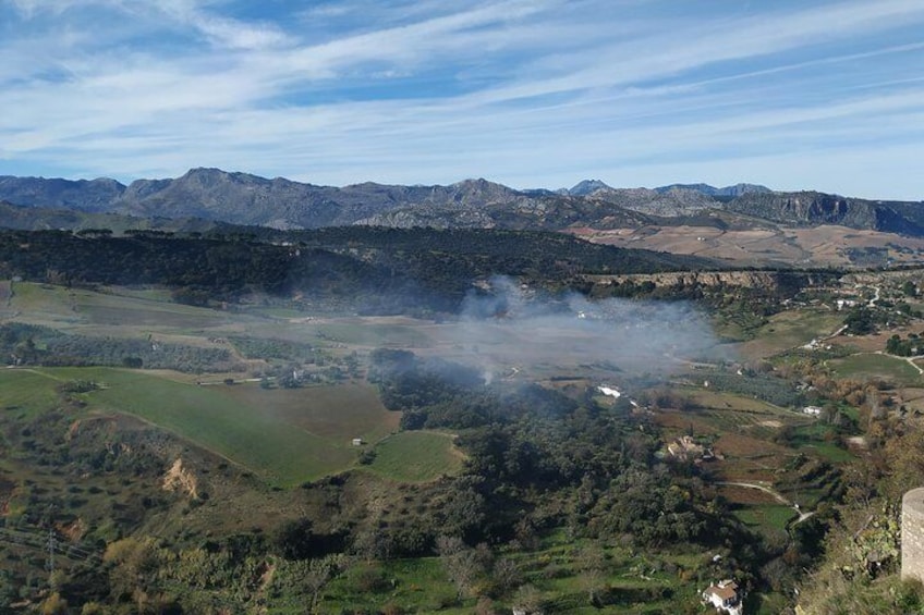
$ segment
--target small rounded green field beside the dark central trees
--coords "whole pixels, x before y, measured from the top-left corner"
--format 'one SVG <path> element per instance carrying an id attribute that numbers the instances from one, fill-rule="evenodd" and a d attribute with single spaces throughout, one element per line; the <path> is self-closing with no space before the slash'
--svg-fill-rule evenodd
<path id="1" fill-rule="evenodd" d="M 426 482 L 462 468 L 453 436 L 433 431 L 402 431 L 375 447 L 374 472 L 401 482 Z"/>

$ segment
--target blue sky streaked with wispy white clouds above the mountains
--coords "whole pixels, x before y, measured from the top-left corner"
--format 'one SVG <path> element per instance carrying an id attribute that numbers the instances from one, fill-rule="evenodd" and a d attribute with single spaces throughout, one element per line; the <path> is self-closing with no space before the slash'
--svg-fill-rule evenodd
<path id="1" fill-rule="evenodd" d="M 924 199 L 920 0 L 0 0 L 0 174 Z"/>

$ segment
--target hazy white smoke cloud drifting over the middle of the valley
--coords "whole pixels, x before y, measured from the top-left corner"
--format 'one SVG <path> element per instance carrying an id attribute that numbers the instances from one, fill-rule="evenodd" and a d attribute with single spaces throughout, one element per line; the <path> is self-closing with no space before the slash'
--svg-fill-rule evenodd
<path id="1" fill-rule="evenodd" d="M 588 366 L 662 376 L 722 358 L 708 318 L 689 302 L 543 298 L 508 278 L 466 298 L 454 337 L 495 377 Z"/>

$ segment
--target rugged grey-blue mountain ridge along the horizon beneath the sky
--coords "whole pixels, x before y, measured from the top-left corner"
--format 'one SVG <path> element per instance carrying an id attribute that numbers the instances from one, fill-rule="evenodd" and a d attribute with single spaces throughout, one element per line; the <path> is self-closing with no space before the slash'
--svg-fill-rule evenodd
<path id="1" fill-rule="evenodd" d="M 136 180 L 127 186 L 109 179 L 61 180 L 0 176 L 0 200 L 15 206 L 121 214 L 142 219 L 200 219 L 275 229 L 317 229 L 352 224 L 394 227 L 566 230 L 683 224 L 709 211 L 775 224 L 841 224 L 854 229 L 924 236 L 924 205 L 877 201 L 817 192 L 774 192 L 755 184 L 717 188 L 671 184 L 657 188 L 613 188 L 585 180 L 572 188 L 516 190 L 486 180 L 448 186 L 362 183 L 318 186 L 219 169 L 192 169 L 168 180 Z M 9 207 L 7 205 L 5 207 Z M 22 209 L 0 211 L 0 225 Z M 36 211 L 36 218 L 41 213 Z M 50 216 L 50 214 L 49 214 Z M 25 217 L 25 218 L 24 218 Z M 29 224 L 57 227 L 66 220 Z M 85 219 L 88 220 L 88 219 Z M 95 222 L 105 222 L 93 218 Z M 76 223 L 76 222 L 75 222 Z"/>

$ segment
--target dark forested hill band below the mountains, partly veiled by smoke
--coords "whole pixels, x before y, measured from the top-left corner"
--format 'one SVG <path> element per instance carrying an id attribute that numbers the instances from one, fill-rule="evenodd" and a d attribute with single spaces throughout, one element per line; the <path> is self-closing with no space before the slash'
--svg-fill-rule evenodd
<path id="1" fill-rule="evenodd" d="M 708 261 L 622 250 L 552 233 L 377 227 L 232 236 L 163 232 L 0 232 L 0 275 L 64 284 L 162 284 L 178 302 L 299 294 L 364 313 L 454 311 L 472 280 L 561 282 L 575 273 L 651 272 Z M 229 241 L 230 239 L 230 241 Z M 263 239 L 263 241 L 257 241 Z"/>

